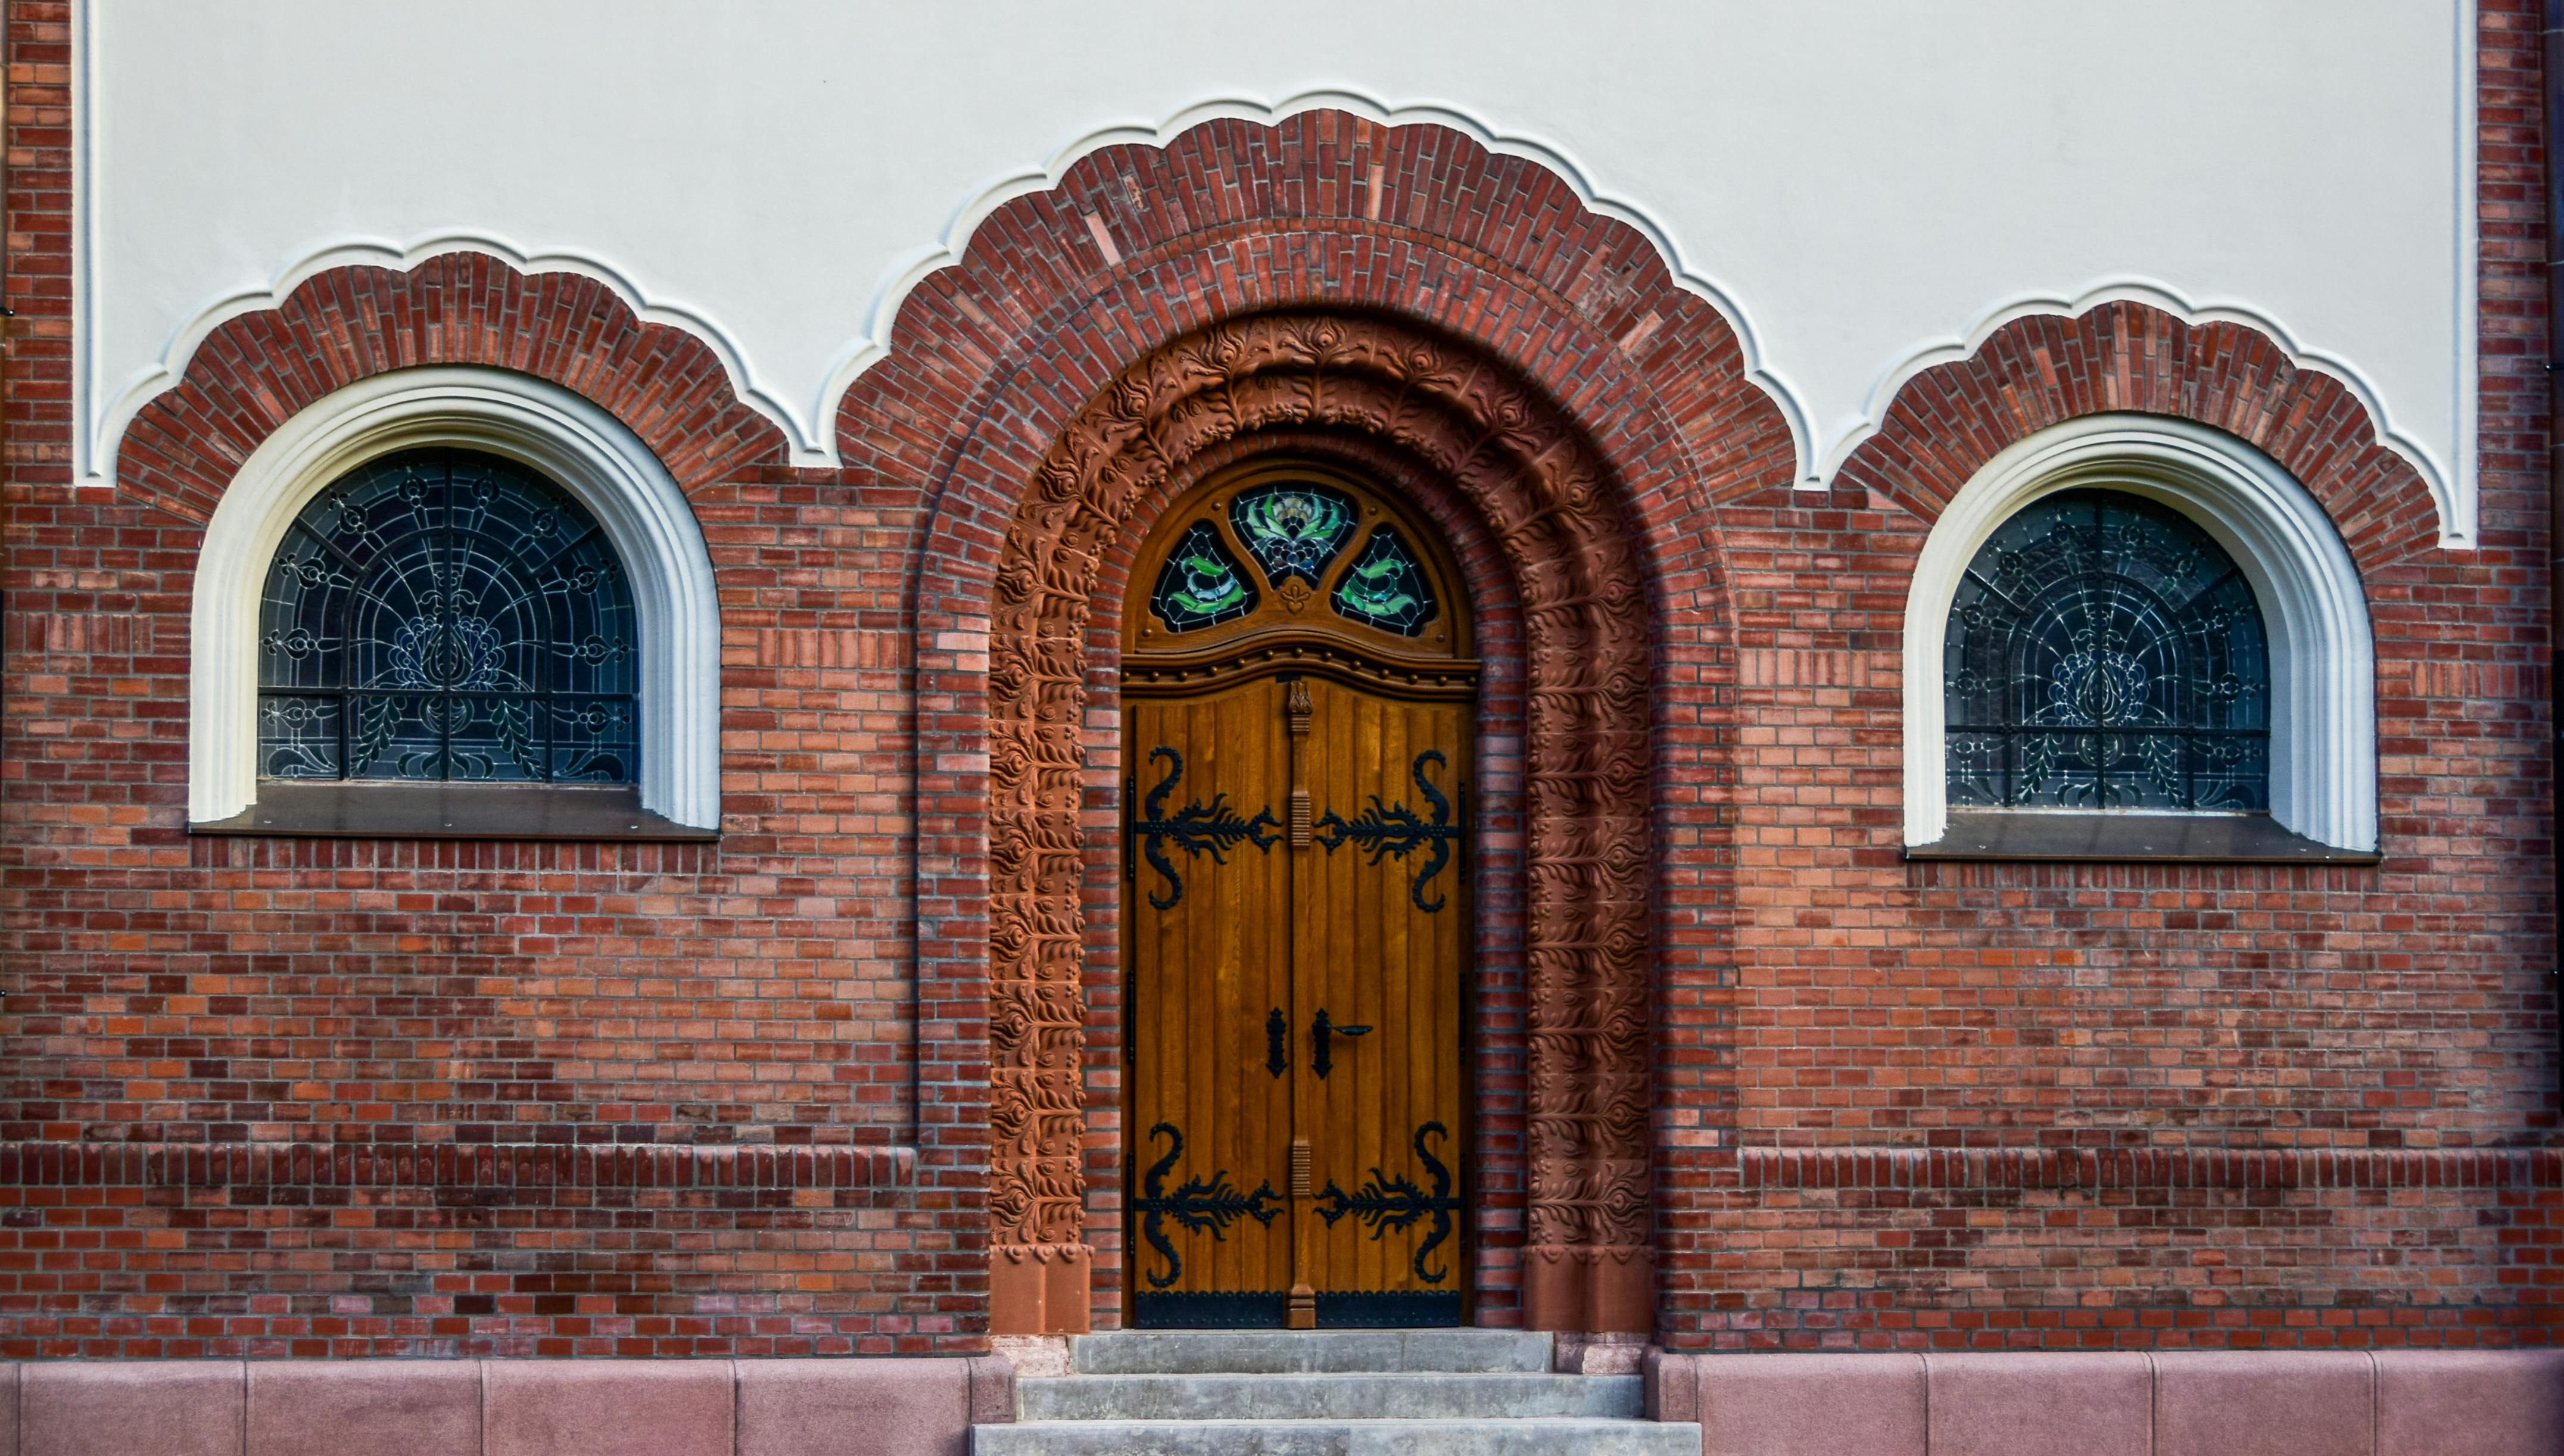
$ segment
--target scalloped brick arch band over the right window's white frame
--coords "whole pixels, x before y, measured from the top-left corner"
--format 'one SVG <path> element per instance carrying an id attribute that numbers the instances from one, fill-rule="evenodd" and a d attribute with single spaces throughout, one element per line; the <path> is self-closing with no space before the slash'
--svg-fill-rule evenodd
<path id="1" fill-rule="evenodd" d="M 2241 323 L 2187 323 L 2141 302 L 2018 318 L 1956 364 L 1897 390 L 1879 433 L 1838 472 L 1920 520 L 2005 446 L 2077 415 L 2174 415 L 2238 436 L 2331 513 L 2364 572 L 2438 546 L 2438 505 L 2331 374 Z"/>

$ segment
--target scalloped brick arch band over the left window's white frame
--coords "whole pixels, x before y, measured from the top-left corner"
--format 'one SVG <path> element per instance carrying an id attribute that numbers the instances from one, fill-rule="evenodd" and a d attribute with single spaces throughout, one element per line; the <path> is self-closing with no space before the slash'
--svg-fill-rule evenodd
<path id="1" fill-rule="evenodd" d="M 133 418 L 118 490 L 205 520 L 241 461 L 297 410 L 420 364 L 513 369 L 585 395 L 687 492 L 787 459 L 782 431 L 738 400 L 720 356 L 692 333 L 644 323 L 590 277 L 441 254 L 410 272 L 328 269 L 277 308 L 215 328 L 177 387 Z"/>

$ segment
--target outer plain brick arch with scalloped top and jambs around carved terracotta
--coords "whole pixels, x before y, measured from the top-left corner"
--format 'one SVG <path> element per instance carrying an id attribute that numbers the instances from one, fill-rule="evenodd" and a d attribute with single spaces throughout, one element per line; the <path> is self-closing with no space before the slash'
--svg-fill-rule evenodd
<path id="1" fill-rule="evenodd" d="M 1636 549 L 1633 579 L 1656 625 L 1651 751 L 1659 774 L 1685 784 L 1659 795 L 1654 813 L 1667 848 L 1656 856 L 1659 997 L 1646 1030 L 1664 1084 L 1687 1089 L 1697 1110 L 1664 1120 L 1656 1138 L 1715 1146 L 1733 1115 L 1726 802 L 1736 625 L 1723 543 L 1705 525 L 1723 502 L 1790 497 L 1795 464 L 1787 420 L 1744 377 L 1733 333 L 1674 285 L 1646 238 L 1587 213 L 1536 164 L 1492 156 L 1438 126 L 1387 128 L 1318 110 L 1277 126 L 1215 120 L 1164 149 L 1103 149 L 1054 192 L 1000 208 L 959 267 L 910 292 L 892 354 L 854 382 L 838 410 L 849 484 L 923 484 L 908 608 L 918 643 L 915 1005 L 918 1025 L 933 1028 L 918 1043 L 918 1164 L 928 1187 L 964 1210 L 951 1223 L 964 1251 L 954 1266 L 964 1310 L 977 1305 L 987 1269 L 969 1251 L 987 1228 L 974 1215 L 992 1156 L 982 1128 L 987 631 L 997 556 L 1049 446 L 1133 361 L 1228 320 L 1292 310 L 1395 318 L 1454 341 L 1572 420 L 1608 461 Z M 1103 895 L 1103 879 L 1090 882 L 1090 902 Z M 1087 933 L 1090 964 L 1110 966 L 1092 920 Z M 1110 972 L 1090 972 L 1095 1000 L 1108 984 Z M 1103 1023 L 1092 1000 L 1085 1015 Z M 1051 1074 L 1067 1077 L 1056 1066 Z M 1110 1107 L 1110 1064 L 1090 1051 L 1087 1074 L 1087 1105 Z M 1067 1166 L 1059 1151 L 1054 1138 L 1049 1156 Z M 1110 1154 L 1092 1151 L 1090 1171 L 1103 1166 Z M 1697 1159 L 1656 1159 L 1651 1174 L 1664 1187 L 1718 1177 Z M 1013 1197 L 1020 1212 L 1026 1195 Z M 1059 1192 L 1049 1197 L 1067 1210 Z M 1090 1200 L 1090 1218 L 1100 1218 L 1105 1197 Z M 1646 1228 L 1659 1218 L 1654 1207 L 1644 1197 L 1623 1207 L 1623 1225 L 1638 1225 L 1641 1241 L 1672 1238 Z M 1595 1266 L 1595 1246 L 1582 1248 L 1579 1266 Z M 1641 1253 L 1631 1251 L 1610 1277 L 1618 1289 L 1638 1287 L 1638 1305 Z M 1649 1323 L 1646 1312 L 1615 1318 Z M 1559 1323 L 1595 1328 L 1590 1312 Z"/>

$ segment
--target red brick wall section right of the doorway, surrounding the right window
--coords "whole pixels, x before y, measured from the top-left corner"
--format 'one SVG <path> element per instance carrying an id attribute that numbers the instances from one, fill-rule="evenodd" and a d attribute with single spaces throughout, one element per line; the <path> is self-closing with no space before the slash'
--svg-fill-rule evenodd
<path id="1" fill-rule="evenodd" d="M 2341 385 L 2138 305 L 1910 379 L 1820 502 L 1723 500 L 1738 1156 L 1659 1189 L 1667 1343 L 2556 1338 L 2536 77 L 2533 10 L 2487 5 L 2479 551 Z M 2385 866 L 1902 861 L 1913 559 L 1979 464 L 2097 410 L 2246 438 L 2333 515 Z"/>

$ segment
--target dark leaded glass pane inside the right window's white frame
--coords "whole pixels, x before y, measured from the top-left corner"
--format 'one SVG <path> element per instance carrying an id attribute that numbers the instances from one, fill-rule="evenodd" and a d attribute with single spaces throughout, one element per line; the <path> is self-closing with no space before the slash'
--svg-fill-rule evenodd
<path id="1" fill-rule="evenodd" d="M 2187 515 L 2067 490 L 2013 515 L 1949 613 L 1951 807 L 2269 810 L 2269 649 Z"/>

